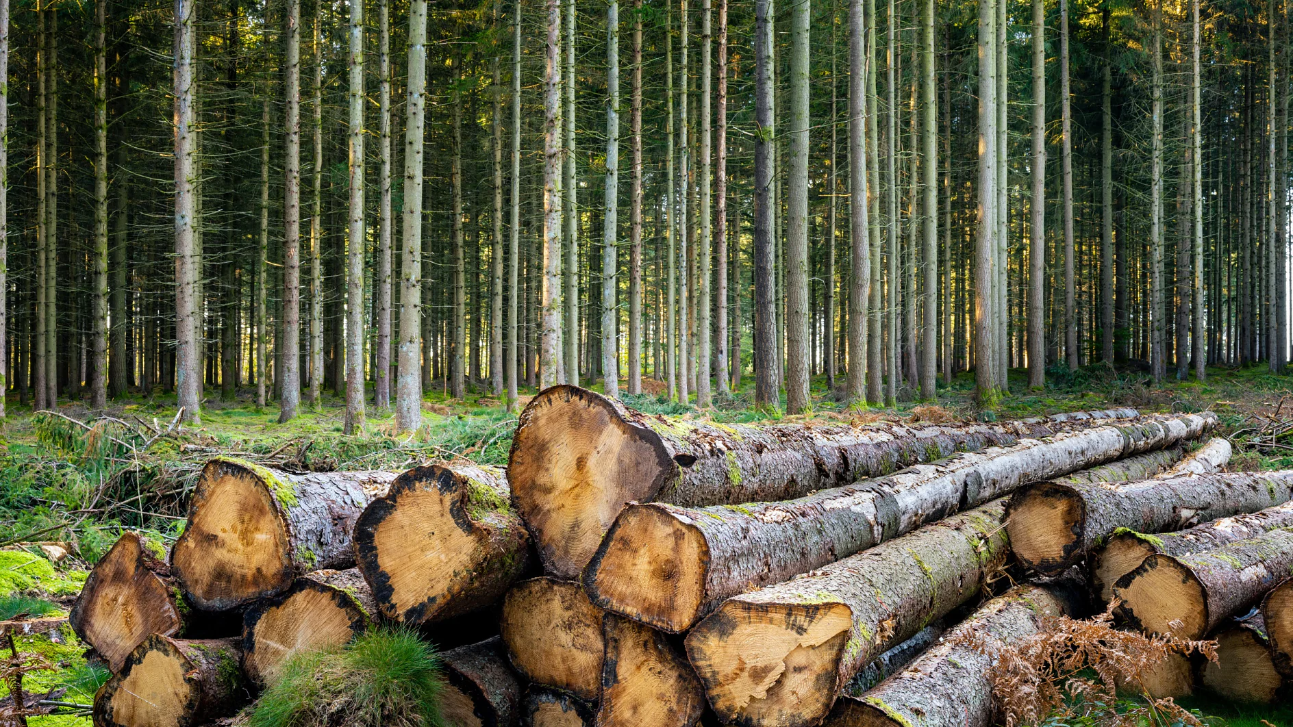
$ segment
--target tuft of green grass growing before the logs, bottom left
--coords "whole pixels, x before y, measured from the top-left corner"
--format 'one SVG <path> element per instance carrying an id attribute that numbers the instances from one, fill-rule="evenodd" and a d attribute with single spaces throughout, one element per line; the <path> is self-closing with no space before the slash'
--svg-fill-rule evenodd
<path id="1" fill-rule="evenodd" d="M 443 678 L 431 644 L 381 629 L 294 656 L 252 706 L 250 727 L 445 727 Z"/>

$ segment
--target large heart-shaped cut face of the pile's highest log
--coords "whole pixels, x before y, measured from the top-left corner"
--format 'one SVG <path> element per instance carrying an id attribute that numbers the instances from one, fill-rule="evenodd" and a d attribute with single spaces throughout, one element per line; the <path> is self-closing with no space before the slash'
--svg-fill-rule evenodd
<path id="1" fill-rule="evenodd" d="M 508 457 L 512 502 L 548 573 L 577 578 L 630 501 L 650 501 L 678 464 L 659 435 L 573 385 L 539 392 Z"/>

